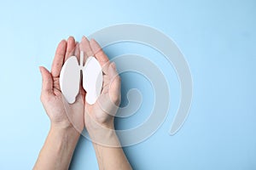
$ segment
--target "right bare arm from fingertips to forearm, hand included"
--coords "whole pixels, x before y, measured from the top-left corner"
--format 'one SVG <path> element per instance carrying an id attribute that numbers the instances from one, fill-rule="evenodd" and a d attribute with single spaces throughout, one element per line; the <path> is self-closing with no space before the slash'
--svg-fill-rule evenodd
<path id="1" fill-rule="evenodd" d="M 107 55 L 103 53 L 102 48 L 95 40 L 89 41 L 83 37 L 80 49 L 85 51 L 85 57 L 93 55 L 96 57 L 104 74 L 102 94 L 96 104 L 85 103 L 84 110 L 84 125 L 96 150 L 99 168 L 130 170 L 131 165 L 119 144 L 113 126 L 113 118 L 117 111 L 117 107 L 113 105 L 119 105 L 120 101 L 120 78 L 115 65 L 109 62 Z"/>

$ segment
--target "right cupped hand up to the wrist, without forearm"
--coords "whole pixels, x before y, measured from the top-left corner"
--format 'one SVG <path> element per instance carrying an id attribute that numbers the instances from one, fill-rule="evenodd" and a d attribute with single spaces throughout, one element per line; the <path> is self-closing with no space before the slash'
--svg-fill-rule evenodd
<path id="1" fill-rule="evenodd" d="M 114 63 L 109 61 L 94 39 L 89 41 L 83 37 L 79 46 L 80 50 L 84 51 L 84 60 L 95 56 L 103 71 L 102 93 L 94 105 L 85 102 L 84 107 L 84 125 L 91 136 L 95 130 L 98 132 L 102 128 L 114 128 L 113 118 L 120 102 L 120 77 Z"/>

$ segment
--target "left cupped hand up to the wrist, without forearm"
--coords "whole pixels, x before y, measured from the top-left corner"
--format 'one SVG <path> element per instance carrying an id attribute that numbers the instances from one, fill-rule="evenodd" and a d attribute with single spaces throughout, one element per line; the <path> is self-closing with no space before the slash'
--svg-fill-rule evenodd
<path id="1" fill-rule="evenodd" d="M 81 133 L 84 129 L 84 90 L 80 88 L 76 101 L 70 105 L 60 88 L 61 67 L 73 55 L 79 58 L 79 43 L 69 37 L 67 41 L 62 40 L 56 48 L 51 72 L 43 66 L 39 67 L 43 77 L 41 101 L 52 126 L 75 127 Z"/>

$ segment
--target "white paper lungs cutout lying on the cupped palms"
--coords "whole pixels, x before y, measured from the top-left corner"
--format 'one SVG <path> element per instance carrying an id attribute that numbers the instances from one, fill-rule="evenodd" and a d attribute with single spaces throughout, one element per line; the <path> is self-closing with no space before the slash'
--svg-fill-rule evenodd
<path id="1" fill-rule="evenodd" d="M 86 91 L 85 100 L 93 105 L 102 91 L 102 67 L 95 57 L 86 59 L 83 66 L 84 53 L 80 53 L 80 65 L 78 59 L 72 56 L 67 59 L 61 69 L 61 92 L 67 102 L 73 104 L 79 94 L 80 71 L 83 72 L 83 88 Z"/>

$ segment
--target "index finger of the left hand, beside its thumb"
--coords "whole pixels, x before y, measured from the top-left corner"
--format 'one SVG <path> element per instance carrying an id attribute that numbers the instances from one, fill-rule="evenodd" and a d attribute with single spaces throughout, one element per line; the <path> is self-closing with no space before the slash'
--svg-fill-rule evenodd
<path id="1" fill-rule="evenodd" d="M 66 40 L 62 40 L 58 47 L 56 48 L 55 52 L 55 59 L 51 65 L 51 74 L 52 77 L 60 77 L 61 67 L 64 62 L 64 57 L 66 53 L 67 42 Z"/>

